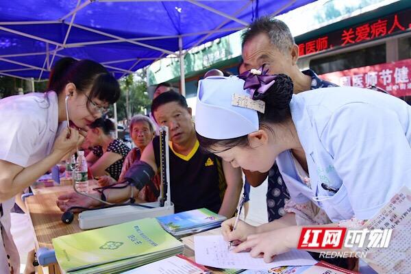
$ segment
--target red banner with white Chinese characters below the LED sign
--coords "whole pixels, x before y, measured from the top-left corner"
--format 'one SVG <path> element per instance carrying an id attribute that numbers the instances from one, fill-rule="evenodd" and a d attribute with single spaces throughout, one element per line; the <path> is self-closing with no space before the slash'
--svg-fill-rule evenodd
<path id="1" fill-rule="evenodd" d="M 411 95 L 409 71 L 411 71 L 411 59 L 374 66 L 362 66 L 319 76 L 339 86 L 366 88 L 375 85 L 384 88 L 390 95 L 400 97 Z"/>

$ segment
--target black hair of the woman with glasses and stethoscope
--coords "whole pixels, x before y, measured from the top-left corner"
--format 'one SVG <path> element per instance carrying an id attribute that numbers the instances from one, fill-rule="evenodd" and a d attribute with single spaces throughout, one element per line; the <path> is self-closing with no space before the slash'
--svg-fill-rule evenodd
<path id="1" fill-rule="evenodd" d="M 78 92 L 90 90 L 90 99 L 115 103 L 120 97 L 120 85 L 101 64 L 92 60 L 62 58 L 51 69 L 47 91 L 62 92 L 66 84 L 73 83 Z"/>

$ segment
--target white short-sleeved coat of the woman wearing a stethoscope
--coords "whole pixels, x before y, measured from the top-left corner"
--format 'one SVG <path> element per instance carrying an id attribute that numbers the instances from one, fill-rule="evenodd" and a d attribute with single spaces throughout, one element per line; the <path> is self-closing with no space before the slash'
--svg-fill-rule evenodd
<path id="1" fill-rule="evenodd" d="M 51 152 L 58 133 L 56 93 L 33 92 L 1 99 L 0 129 L 1 160 L 23 167 L 42 160 Z M 10 273 L 9 265 L 18 273 L 20 266 L 10 234 L 13 206 L 14 198 L 0 204 L 0 273 Z"/>

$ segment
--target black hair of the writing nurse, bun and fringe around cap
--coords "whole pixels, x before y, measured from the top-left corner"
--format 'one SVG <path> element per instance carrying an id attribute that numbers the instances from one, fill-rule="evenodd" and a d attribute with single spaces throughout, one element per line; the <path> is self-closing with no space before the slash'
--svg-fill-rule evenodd
<path id="1" fill-rule="evenodd" d="M 292 84 L 291 78 L 285 74 L 279 74 L 275 78 L 273 86 L 271 86 L 264 94 L 254 92 L 253 99 L 258 97 L 258 99 L 265 102 L 265 112 L 257 112 L 260 128 L 264 127 L 272 132 L 273 129 L 271 129 L 269 124 L 281 124 L 291 118 L 290 101 L 293 90 L 294 85 Z M 215 151 L 214 149 L 216 147 L 223 147 L 224 150 L 228 150 L 233 147 L 246 147 L 249 145 L 248 135 L 225 140 L 216 140 L 206 138 L 197 133 L 197 139 L 203 150 L 212 153 L 221 152 L 221 150 Z"/>

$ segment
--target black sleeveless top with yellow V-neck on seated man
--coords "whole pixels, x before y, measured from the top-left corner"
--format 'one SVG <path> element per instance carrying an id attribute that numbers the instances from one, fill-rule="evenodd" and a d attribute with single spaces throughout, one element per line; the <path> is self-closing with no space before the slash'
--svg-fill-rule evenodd
<path id="1" fill-rule="evenodd" d="M 174 151 L 169 142 L 170 189 L 174 211 L 182 212 L 196 208 L 208 208 L 219 212 L 221 208 L 220 190 L 225 184 L 221 159 L 212 153 L 203 153 L 199 141 L 188 155 Z M 155 163 L 160 166 L 160 138 L 153 139 Z"/>

